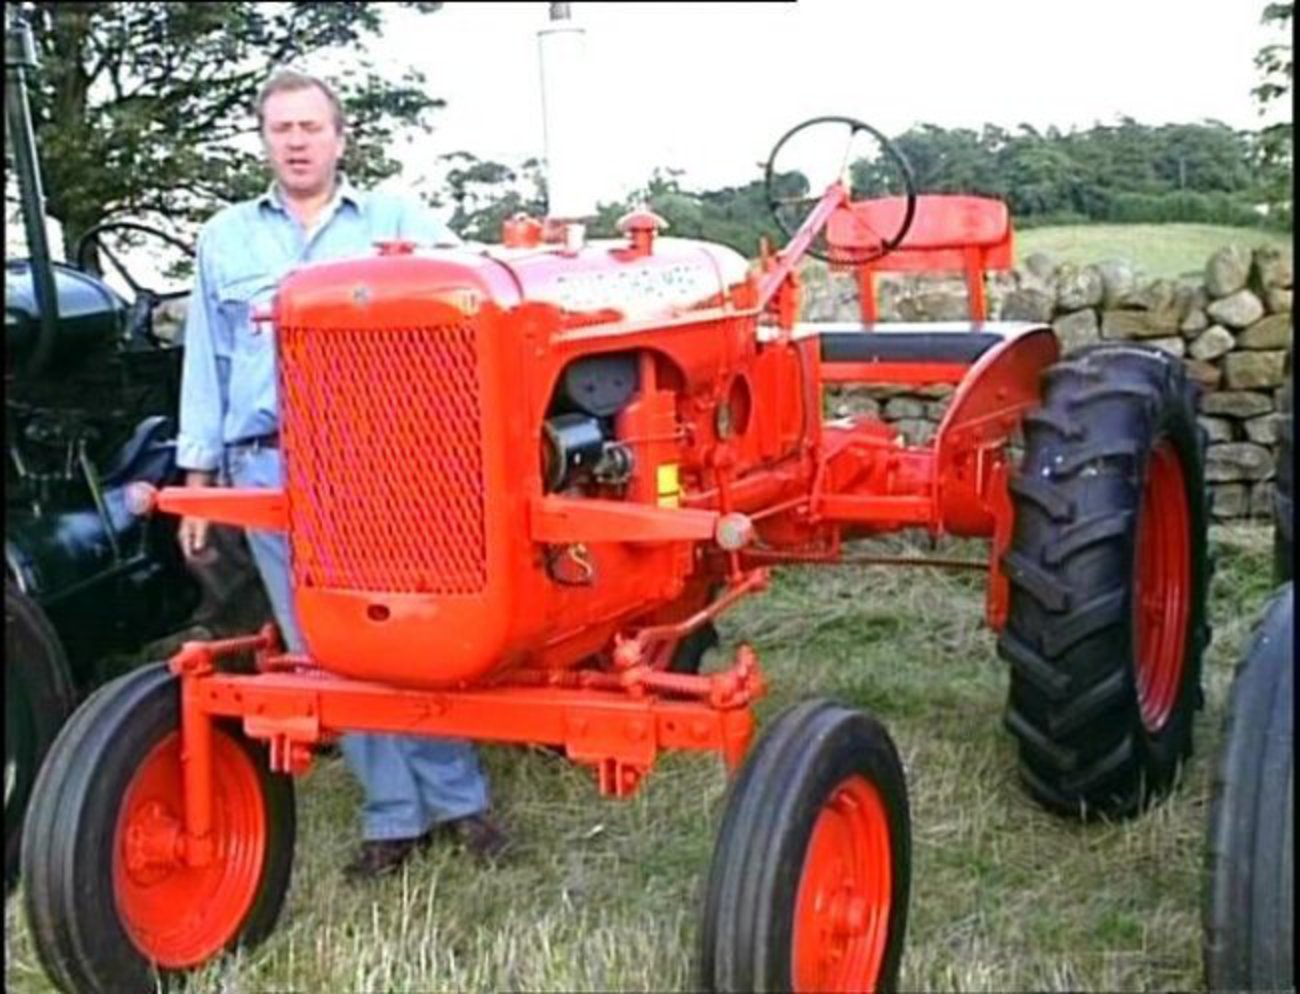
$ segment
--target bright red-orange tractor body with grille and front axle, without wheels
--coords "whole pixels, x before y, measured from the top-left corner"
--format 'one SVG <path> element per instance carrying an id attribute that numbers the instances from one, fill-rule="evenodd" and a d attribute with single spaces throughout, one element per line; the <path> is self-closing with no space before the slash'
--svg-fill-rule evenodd
<path id="1" fill-rule="evenodd" d="M 922 199 L 900 259 L 975 257 L 950 244 L 953 203 Z M 1009 259 L 1009 227 L 993 238 L 997 218 L 959 204 L 980 266 Z M 289 277 L 274 307 L 285 489 L 134 494 L 286 530 L 311 647 L 289 655 L 264 631 L 173 657 L 186 860 L 212 858 L 216 719 L 269 742 L 281 771 L 302 772 L 343 732 L 456 735 L 563 746 L 625 795 L 666 748 L 740 761 L 764 689 L 753 651 L 706 676 L 664 665 L 762 589 L 770 564 L 840 561 L 844 541 L 907 528 L 988 537 L 998 626 L 1005 448 L 1056 342 L 985 325 L 1000 340 L 970 363 L 823 363 L 815 329 L 796 322 L 796 265 L 823 226 L 833 244 L 875 209 L 833 185 L 758 273 L 642 225 L 630 247 L 390 246 Z M 556 383 L 575 360 L 611 353 L 634 357 L 634 392 L 612 418 L 634 470 L 547 492 L 541 429 Z M 936 438 L 906 446 L 876 418 L 823 424 L 827 382 L 957 389 Z M 256 674 L 222 672 L 247 651 Z"/>

